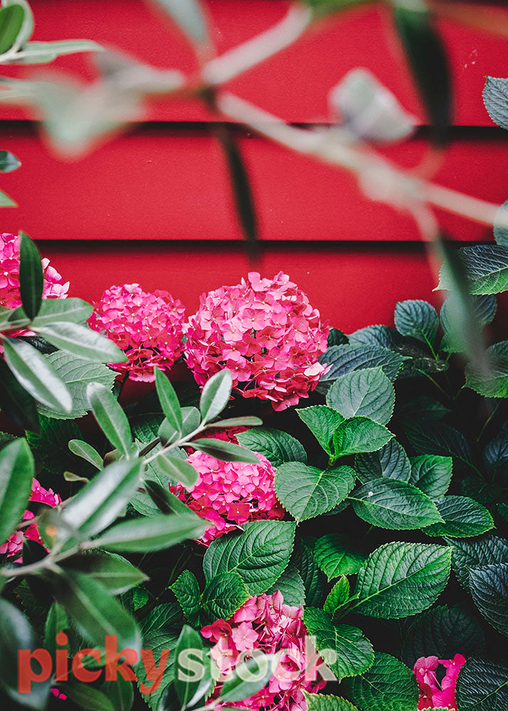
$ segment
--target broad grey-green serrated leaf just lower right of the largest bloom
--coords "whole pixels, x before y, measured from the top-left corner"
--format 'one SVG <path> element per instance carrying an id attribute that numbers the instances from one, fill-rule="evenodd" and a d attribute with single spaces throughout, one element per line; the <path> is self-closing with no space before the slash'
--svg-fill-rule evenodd
<path id="1" fill-rule="evenodd" d="M 327 392 L 327 405 L 343 417 L 369 417 L 386 424 L 395 405 L 395 390 L 382 368 L 353 370 L 337 378 Z"/>

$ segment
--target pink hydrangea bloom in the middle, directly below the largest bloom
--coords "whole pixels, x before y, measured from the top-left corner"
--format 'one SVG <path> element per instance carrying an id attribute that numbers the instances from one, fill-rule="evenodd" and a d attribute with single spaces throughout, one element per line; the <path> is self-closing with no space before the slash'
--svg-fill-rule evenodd
<path id="1" fill-rule="evenodd" d="M 235 435 L 240 431 L 242 428 L 236 427 L 209 436 L 238 444 Z M 246 464 L 220 461 L 202 451 L 194 451 L 187 458 L 198 471 L 194 486 L 169 487 L 189 508 L 211 522 L 201 538 L 204 545 L 247 521 L 283 518 L 284 509 L 275 496 L 275 469 L 263 454 L 256 453 L 256 456 L 259 464 Z"/>

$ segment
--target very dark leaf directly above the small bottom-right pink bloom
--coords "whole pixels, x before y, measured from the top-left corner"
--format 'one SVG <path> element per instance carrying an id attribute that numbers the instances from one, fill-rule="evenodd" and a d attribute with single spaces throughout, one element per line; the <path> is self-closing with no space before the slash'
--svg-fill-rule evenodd
<path id="1" fill-rule="evenodd" d="M 484 646 L 485 635 L 477 619 L 458 605 L 440 605 L 418 615 L 404 631 L 403 660 L 413 666 L 420 657 L 453 659 L 457 649 L 469 657 Z"/>

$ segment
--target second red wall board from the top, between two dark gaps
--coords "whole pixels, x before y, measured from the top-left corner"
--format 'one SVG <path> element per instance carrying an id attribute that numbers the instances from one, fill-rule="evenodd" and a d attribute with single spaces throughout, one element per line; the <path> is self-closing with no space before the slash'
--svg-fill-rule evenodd
<path id="1" fill-rule="evenodd" d="M 493 203 L 508 193 L 508 133 L 462 136 L 445 152 L 435 180 Z M 115 139 L 85 160 L 48 153 L 26 124 L 0 124 L 0 142 L 21 159 L 1 176 L 18 208 L 2 211 L 4 231 L 38 240 L 241 240 L 221 150 L 205 131 L 153 126 Z M 420 240 L 413 220 L 361 195 L 344 171 L 240 135 L 263 240 Z M 406 168 L 426 151 L 416 139 L 385 153 Z M 490 240 L 492 230 L 441 213 L 458 240 Z"/>

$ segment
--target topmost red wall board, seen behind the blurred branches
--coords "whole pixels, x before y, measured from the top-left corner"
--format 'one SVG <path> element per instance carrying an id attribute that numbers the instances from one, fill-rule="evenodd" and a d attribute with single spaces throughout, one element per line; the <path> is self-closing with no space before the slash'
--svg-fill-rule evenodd
<path id="1" fill-rule="evenodd" d="M 169 22 L 161 22 L 142 0 L 33 0 L 37 40 L 90 38 L 116 46 L 157 67 L 186 73 L 196 69 L 194 55 Z M 289 6 L 285 0 L 206 0 L 218 53 L 255 36 L 278 21 Z M 490 8 L 487 4 L 486 8 Z M 497 12 L 503 10 L 497 8 Z M 508 12 L 504 11 L 504 16 Z M 499 36 L 440 21 L 455 84 L 455 123 L 492 125 L 482 104 L 485 75 L 507 74 L 508 41 Z M 386 7 L 347 11 L 324 24 L 263 65 L 231 82 L 231 89 L 293 122 L 329 120 L 327 94 L 351 68 L 370 68 L 425 122 L 411 77 L 401 64 L 398 41 Z M 90 79 L 90 59 L 74 55 L 53 67 Z M 37 71 L 41 71 L 36 70 Z M 4 75 L 31 75 L 33 68 L 2 68 Z M 0 117 L 22 117 L 0 106 Z M 195 102 L 163 102 L 147 117 L 164 121 L 201 121 L 210 116 Z"/>

